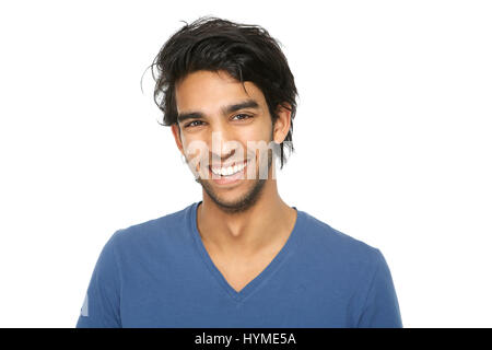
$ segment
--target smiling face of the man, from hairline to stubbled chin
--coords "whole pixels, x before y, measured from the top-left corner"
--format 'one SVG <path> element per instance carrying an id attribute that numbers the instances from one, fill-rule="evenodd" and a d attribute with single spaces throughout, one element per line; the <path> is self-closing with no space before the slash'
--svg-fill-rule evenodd
<path id="1" fill-rule="evenodd" d="M 227 212 L 256 202 L 272 163 L 266 148 L 251 147 L 274 144 L 267 102 L 251 82 L 244 88 L 224 71 L 197 71 L 176 85 L 176 142 L 197 182 Z"/>

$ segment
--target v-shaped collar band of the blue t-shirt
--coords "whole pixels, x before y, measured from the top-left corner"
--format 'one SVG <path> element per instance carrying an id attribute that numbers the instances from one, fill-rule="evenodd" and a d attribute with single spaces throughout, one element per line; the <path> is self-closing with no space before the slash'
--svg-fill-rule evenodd
<path id="1" fill-rule="evenodd" d="M 191 235 L 194 237 L 194 242 L 196 243 L 195 246 L 199 250 L 199 254 L 204 262 L 204 265 L 208 267 L 210 272 L 213 275 L 215 280 L 221 284 L 221 287 L 224 289 L 224 291 L 236 302 L 244 301 L 249 294 L 251 294 L 256 289 L 259 288 L 259 285 L 267 281 L 272 273 L 277 271 L 277 269 L 280 267 L 280 265 L 285 260 L 285 257 L 289 254 L 292 254 L 294 250 L 294 247 L 297 245 L 297 240 L 301 234 L 301 225 L 304 222 L 304 212 L 297 210 L 297 208 L 292 207 L 297 211 L 297 218 L 295 219 L 294 228 L 291 231 L 291 234 L 289 235 L 288 241 L 284 243 L 283 247 L 280 249 L 279 253 L 274 256 L 274 258 L 270 261 L 270 264 L 258 275 L 256 276 L 249 283 L 247 283 L 241 291 L 236 291 L 234 288 L 229 284 L 227 280 L 224 278 L 222 272 L 218 269 L 215 264 L 212 261 L 209 253 L 207 252 L 203 241 L 201 240 L 200 232 L 198 231 L 197 225 L 197 209 L 198 206 L 202 201 L 195 202 L 191 205 L 190 211 L 189 211 L 189 218 L 188 223 L 190 224 L 191 229 Z"/>

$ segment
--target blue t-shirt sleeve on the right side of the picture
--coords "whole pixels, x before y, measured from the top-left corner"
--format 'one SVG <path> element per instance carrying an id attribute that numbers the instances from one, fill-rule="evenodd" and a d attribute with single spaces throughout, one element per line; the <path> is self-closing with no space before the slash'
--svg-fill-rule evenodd
<path id="1" fill-rule="evenodd" d="M 374 271 L 358 327 L 402 328 L 391 272 L 385 257 L 377 248 Z"/>

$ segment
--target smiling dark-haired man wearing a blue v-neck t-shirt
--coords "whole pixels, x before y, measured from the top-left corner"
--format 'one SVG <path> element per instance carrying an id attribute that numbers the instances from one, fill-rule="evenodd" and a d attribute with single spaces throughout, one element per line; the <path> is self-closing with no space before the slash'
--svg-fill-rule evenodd
<path id="1" fill-rule="evenodd" d="M 297 91 L 268 32 L 202 18 L 153 65 L 203 198 L 114 233 L 77 327 L 402 327 L 382 253 L 278 192 Z"/>

